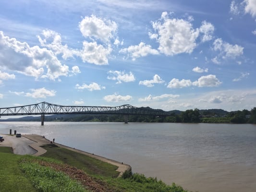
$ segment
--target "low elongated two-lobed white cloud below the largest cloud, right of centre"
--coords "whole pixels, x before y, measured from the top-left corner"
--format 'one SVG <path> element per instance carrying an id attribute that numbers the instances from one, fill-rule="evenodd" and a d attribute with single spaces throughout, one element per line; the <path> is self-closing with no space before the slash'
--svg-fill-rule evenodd
<path id="1" fill-rule="evenodd" d="M 201 76 L 197 81 L 191 82 L 191 80 L 179 80 L 173 78 L 169 84 L 167 85 L 168 88 L 183 88 L 183 87 L 189 87 L 189 86 L 198 86 L 198 87 L 214 87 L 219 86 L 221 82 L 215 75 L 207 75 L 207 76 Z"/>

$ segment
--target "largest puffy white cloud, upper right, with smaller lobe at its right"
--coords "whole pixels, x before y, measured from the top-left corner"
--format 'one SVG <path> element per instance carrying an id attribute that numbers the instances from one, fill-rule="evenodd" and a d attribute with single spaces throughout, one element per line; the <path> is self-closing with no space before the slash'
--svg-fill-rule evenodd
<path id="1" fill-rule="evenodd" d="M 214 31 L 214 26 L 206 21 L 203 21 L 199 28 L 194 29 L 192 21 L 191 17 L 187 20 L 170 18 L 167 12 L 163 12 L 161 19 L 152 22 L 156 33 L 149 33 L 149 37 L 158 41 L 158 50 L 165 55 L 192 53 L 200 33 L 201 41 L 205 42 L 213 38 Z"/>

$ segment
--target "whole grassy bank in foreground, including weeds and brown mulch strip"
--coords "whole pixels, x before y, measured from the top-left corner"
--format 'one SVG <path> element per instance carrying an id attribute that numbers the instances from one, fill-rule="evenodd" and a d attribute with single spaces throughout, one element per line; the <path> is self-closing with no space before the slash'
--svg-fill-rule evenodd
<path id="1" fill-rule="evenodd" d="M 0 147 L 0 191 L 8 192 L 187 192 L 141 174 L 117 178 L 117 167 L 55 145 L 44 157 L 12 154 Z"/>

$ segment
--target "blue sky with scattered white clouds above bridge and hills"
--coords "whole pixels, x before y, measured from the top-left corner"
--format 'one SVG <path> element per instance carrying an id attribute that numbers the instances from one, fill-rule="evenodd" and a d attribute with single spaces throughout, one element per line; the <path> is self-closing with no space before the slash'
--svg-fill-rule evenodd
<path id="1" fill-rule="evenodd" d="M 1 0 L 0 108 L 256 107 L 256 0 Z"/>

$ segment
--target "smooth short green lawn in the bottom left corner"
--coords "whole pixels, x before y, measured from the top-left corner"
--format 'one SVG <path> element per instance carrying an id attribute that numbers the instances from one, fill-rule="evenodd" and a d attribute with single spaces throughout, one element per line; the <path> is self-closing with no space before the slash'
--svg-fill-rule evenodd
<path id="1" fill-rule="evenodd" d="M 0 147 L 0 151 L 4 151 Z M 8 151 L 8 150 L 7 150 Z M 30 180 L 25 177 L 19 168 L 21 156 L 0 153 L 0 191 L 1 192 L 37 192 Z"/>

